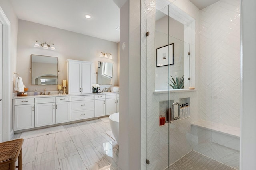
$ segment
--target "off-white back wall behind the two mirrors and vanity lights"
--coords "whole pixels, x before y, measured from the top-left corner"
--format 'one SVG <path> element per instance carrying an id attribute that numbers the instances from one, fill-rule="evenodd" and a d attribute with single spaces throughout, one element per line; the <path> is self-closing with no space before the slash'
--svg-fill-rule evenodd
<path id="1" fill-rule="evenodd" d="M 56 51 L 36 48 L 35 41 L 46 43 L 54 43 Z M 49 27 L 25 20 L 18 20 L 18 45 L 17 45 L 17 72 L 22 77 L 23 83 L 29 88 L 28 91 L 34 91 L 37 88 L 38 92 L 57 91 L 57 85 L 35 86 L 31 85 L 31 54 L 46 55 L 58 57 L 58 84 L 62 84 L 62 80 L 67 79 L 67 59 L 92 61 L 92 84 L 96 84 L 96 74 L 98 61 L 114 63 L 113 66 L 113 83 L 108 86 L 118 86 L 118 43 Z M 100 52 L 112 53 L 113 59 L 105 59 L 98 57 Z"/>

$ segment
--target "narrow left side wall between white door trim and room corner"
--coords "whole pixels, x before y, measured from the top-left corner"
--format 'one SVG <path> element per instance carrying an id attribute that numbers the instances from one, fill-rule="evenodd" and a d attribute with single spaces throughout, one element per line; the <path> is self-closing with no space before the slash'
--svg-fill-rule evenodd
<path id="1" fill-rule="evenodd" d="M 0 6 L 2 10 L 4 11 L 6 17 L 10 21 L 10 63 L 8 63 L 8 66 L 5 66 L 8 68 L 6 71 L 6 74 L 10 75 L 10 77 L 5 80 L 8 81 L 7 83 L 10 84 L 10 87 L 8 89 L 3 89 L 4 93 L 9 96 L 9 98 L 12 98 L 12 92 L 13 92 L 13 83 L 11 82 L 11 76 L 13 72 L 16 72 L 16 53 L 17 53 L 17 32 L 18 32 L 18 18 L 16 16 L 16 13 L 14 12 L 14 9 L 12 8 L 12 4 L 8 0 L 0 0 Z M 6 56 L 4 56 L 6 57 Z M 8 60 L 8 59 L 6 59 Z M 6 84 L 6 82 L 4 82 Z M 12 100 L 10 101 L 3 101 L 4 106 L 6 107 L 6 119 L 4 120 L 4 140 L 7 141 L 10 139 L 10 134 L 12 131 Z"/>

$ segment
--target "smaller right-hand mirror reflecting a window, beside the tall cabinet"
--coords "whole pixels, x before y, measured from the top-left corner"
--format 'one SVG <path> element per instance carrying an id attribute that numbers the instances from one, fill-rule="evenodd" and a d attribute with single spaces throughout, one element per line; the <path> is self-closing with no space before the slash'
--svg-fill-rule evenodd
<path id="1" fill-rule="evenodd" d="M 113 77 L 113 63 L 98 61 L 97 84 L 111 85 Z"/>

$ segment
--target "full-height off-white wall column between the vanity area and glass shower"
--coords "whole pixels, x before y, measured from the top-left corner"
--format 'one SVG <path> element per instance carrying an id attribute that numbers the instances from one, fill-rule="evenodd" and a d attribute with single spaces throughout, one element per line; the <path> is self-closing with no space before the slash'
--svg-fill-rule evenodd
<path id="1" fill-rule="evenodd" d="M 120 8 L 119 160 L 122 170 L 140 169 L 140 1 Z"/>

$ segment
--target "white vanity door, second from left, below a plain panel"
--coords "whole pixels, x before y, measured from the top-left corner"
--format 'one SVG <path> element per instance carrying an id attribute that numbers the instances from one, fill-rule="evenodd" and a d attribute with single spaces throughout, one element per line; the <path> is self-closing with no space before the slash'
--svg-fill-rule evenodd
<path id="1" fill-rule="evenodd" d="M 55 103 L 35 104 L 35 127 L 55 124 Z"/>

